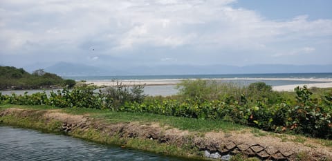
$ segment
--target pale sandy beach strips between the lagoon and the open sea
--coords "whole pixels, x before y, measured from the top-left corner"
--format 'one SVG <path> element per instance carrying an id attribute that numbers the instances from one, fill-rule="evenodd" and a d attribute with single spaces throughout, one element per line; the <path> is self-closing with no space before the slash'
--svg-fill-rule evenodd
<path id="1" fill-rule="evenodd" d="M 123 85 L 132 86 L 138 84 L 145 84 L 146 86 L 163 86 L 163 85 L 176 85 L 181 82 L 182 79 L 130 79 L 119 80 L 118 82 Z M 284 86 L 273 86 L 273 91 L 293 91 L 296 86 L 308 86 L 308 88 L 332 88 L 332 78 L 217 78 L 212 79 L 216 81 L 232 81 L 232 80 L 283 80 L 283 81 L 306 81 L 313 83 L 306 84 L 291 84 Z M 320 83 L 317 83 L 320 82 Z M 117 82 L 111 80 L 90 80 L 86 84 L 95 84 L 97 86 L 116 86 Z"/>

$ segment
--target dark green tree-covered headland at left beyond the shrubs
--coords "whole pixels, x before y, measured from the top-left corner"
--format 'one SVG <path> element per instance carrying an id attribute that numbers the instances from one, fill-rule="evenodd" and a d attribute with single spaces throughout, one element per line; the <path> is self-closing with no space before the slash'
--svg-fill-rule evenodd
<path id="1" fill-rule="evenodd" d="M 71 79 L 62 79 L 52 73 L 46 73 L 44 70 L 35 70 L 32 74 L 26 72 L 23 68 L 12 66 L 0 66 L 0 89 L 37 89 L 54 88 L 68 86 L 71 88 L 75 81 Z"/>

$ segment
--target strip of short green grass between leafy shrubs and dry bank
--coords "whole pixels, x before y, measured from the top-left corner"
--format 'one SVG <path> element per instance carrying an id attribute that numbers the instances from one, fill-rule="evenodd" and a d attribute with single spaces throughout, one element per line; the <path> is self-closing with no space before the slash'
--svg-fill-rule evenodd
<path id="1" fill-rule="evenodd" d="M 121 123 L 121 122 L 140 122 L 140 123 L 151 123 L 157 122 L 162 126 L 171 126 L 180 130 L 187 131 L 240 131 L 241 129 L 248 129 L 246 126 L 234 124 L 232 122 L 223 122 L 215 120 L 198 120 L 187 117 L 174 117 L 157 115 L 151 113 L 128 113 L 128 112 L 114 112 L 109 110 L 100 110 L 93 108 L 57 108 L 53 106 L 39 105 L 39 106 L 22 106 L 6 104 L 1 105 L 0 109 L 6 108 L 22 108 L 31 110 L 57 110 L 62 113 L 68 113 L 73 115 L 89 115 L 95 119 L 101 119 L 109 123 Z"/>

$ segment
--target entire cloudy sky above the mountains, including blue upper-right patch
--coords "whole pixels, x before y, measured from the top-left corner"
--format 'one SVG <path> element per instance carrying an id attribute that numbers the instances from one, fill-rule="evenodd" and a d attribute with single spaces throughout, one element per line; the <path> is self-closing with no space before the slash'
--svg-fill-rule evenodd
<path id="1" fill-rule="evenodd" d="M 1 0 L 0 64 L 332 64 L 330 0 Z"/>

